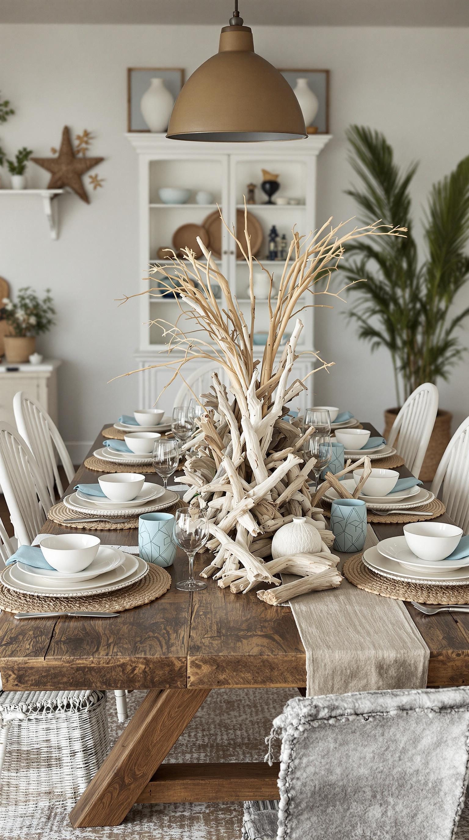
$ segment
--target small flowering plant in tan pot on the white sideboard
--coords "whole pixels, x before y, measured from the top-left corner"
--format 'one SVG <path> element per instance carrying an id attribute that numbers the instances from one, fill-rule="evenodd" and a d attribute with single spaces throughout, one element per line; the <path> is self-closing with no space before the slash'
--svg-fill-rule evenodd
<path id="1" fill-rule="evenodd" d="M 55 308 L 50 289 L 40 300 L 30 286 L 18 290 L 16 302 L 3 298 L 0 317 L 8 323 L 9 335 L 3 339 L 8 362 L 27 362 L 36 347 L 36 335 L 47 333 L 55 323 Z"/>

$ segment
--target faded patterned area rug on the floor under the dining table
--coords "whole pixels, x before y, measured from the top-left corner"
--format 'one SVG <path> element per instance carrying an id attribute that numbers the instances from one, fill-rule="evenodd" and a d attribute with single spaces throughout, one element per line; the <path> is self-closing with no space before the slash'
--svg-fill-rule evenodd
<path id="1" fill-rule="evenodd" d="M 166 761 L 263 761 L 264 738 L 271 722 L 294 689 L 217 689 L 208 695 L 197 715 L 171 749 Z M 129 714 L 144 693 L 128 697 Z M 108 694 L 111 743 L 124 729 L 119 723 L 113 694 Z M 135 805 L 121 826 L 72 828 L 68 810 L 43 807 L 24 815 L 0 812 L 0 840 L 240 840 L 243 806 L 240 802 Z"/>

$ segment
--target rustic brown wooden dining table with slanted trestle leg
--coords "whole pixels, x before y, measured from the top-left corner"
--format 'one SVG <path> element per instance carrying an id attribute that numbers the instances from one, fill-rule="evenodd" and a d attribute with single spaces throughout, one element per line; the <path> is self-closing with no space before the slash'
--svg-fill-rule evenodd
<path id="1" fill-rule="evenodd" d="M 378 434 L 371 424 L 363 425 Z M 90 454 L 101 441 L 99 434 Z M 399 472 L 410 475 L 405 467 Z M 156 475 L 146 478 L 161 483 Z M 68 492 L 77 482 L 96 480 L 97 473 L 82 465 Z M 446 515 L 440 521 L 451 522 Z M 403 533 L 401 525 L 372 528 L 378 539 Z M 47 520 L 42 530 L 64 533 L 66 528 Z M 103 544 L 138 543 L 136 528 L 87 533 Z M 199 561 L 199 570 L 203 564 L 206 559 Z M 292 612 L 260 601 L 256 591 L 233 595 L 213 581 L 204 591 L 178 591 L 177 580 L 187 577 L 182 552 L 169 571 L 172 584 L 165 595 L 115 618 L 16 621 L 8 612 L 0 616 L 4 690 L 148 690 L 71 811 L 74 827 L 119 825 L 135 802 L 278 798 L 275 764 L 162 762 L 211 690 L 303 689 L 306 654 Z M 469 616 L 426 617 L 406 607 L 429 647 L 428 685 L 469 685 Z M 213 726 L 223 726 L 223 720 Z"/>

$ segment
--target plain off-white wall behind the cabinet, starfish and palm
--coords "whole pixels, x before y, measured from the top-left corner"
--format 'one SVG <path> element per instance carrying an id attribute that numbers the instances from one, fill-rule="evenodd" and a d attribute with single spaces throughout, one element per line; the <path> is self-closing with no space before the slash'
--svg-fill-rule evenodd
<path id="1" fill-rule="evenodd" d="M 398 160 L 420 159 L 414 180 L 419 211 L 432 181 L 467 154 L 469 31 L 467 29 L 256 27 L 256 50 L 284 67 L 329 67 L 334 139 L 319 157 L 318 218 L 354 213 L 343 195 L 350 182 L 344 129 L 352 122 L 381 129 Z M 57 327 L 40 349 L 64 360 L 60 377 L 61 431 L 69 443 L 88 443 L 97 427 L 134 407 L 136 377 L 107 381 L 134 367 L 138 307 L 114 299 L 139 291 L 137 157 L 124 138 L 128 66 L 185 66 L 187 75 L 217 49 L 218 27 L 3 25 L 0 88 L 17 115 L 0 126 L 11 155 L 28 145 L 47 156 L 65 124 L 92 130 L 97 171 L 106 181 L 88 207 L 61 197 L 61 235 L 49 237 L 39 199 L 0 197 L 0 276 L 18 286 L 50 286 Z M 4 177 L 4 182 L 8 176 Z M 47 175 L 29 167 L 29 185 Z M 38 202 L 36 204 L 36 201 Z M 353 302 L 353 297 L 351 297 Z M 469 303 L 469 290 L 460 306 Z M 317 346 L 335 360 L 316 378 L 320 404 L 350 407 L 382 425 L 394 404 L 387 354 L 371 356 L 357 342 L 340 305 L 316 318 Z M 469 330 L 465 337 L 469 342 Z M 469 413 L 467 365 L 441 386 L 441 405 L 459 423 Z M 82 446 L 73 446 L 74 457 Z"/>

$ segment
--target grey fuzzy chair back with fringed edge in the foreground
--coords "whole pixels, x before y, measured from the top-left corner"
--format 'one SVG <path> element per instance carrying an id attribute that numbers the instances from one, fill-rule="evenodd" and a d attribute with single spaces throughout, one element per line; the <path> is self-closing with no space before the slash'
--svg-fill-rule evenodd
<path id="1" fill-rule="evenodd" d="M 294 698 L 277 837 L 451 840 L 468 774 L 469 689 Z"/>

